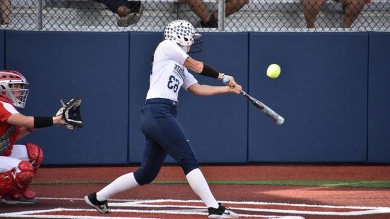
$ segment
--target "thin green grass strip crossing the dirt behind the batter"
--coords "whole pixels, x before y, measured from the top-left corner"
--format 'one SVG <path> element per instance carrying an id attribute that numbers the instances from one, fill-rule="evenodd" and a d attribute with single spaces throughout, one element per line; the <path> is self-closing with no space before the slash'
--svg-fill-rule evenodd
<path id="1" fill-rule="evenodd" d="M 210 180 L 210 185 L 268 185 L 312 187 L 356 187 L 390 189 L 389 180 Z M 109 184 L 110 181 L 33 182 L 33 185 Z M 151 184 L 187 184 L 187 181 L 155 181 Z"/>

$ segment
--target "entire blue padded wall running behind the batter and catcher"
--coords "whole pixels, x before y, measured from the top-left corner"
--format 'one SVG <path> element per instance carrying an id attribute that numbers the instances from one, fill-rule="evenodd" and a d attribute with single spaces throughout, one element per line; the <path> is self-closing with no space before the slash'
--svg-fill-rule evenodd
<path id="1" fill-rule="evenodd" d="M 0 31 L 0 66 L 30 83 L 21 113 L 54 115 L 60 98 L 83 97 L 84 128 L 50 127 L 19 143 L 40 145 L 45 165 L 138 164 L 140 110 L 161 37 Z M 274 124 L 239 95 L 182 89 L 177 118 L 200 163 L 390 163 L 389 33 L 210 32 L 201 39 L 204 50 L 193 58 L 234 76 L 286 120 Z M 271 63 L 282 68 L 277 79 L 265 75 Z"/>

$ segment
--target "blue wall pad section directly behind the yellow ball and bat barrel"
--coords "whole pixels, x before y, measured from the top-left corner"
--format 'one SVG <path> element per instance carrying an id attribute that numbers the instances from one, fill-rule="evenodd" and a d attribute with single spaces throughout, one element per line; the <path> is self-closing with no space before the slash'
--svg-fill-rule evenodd
<path id="1" fill-rule="evenodd" d="M 249 93 L 285 117 L 249 107 L 249 162 L 365 162 L 366 33 L 253 33 Z M 276 46 L 277 45 L 277 46 Z M 276 80 L 263 72 L 278 63 Z"/>

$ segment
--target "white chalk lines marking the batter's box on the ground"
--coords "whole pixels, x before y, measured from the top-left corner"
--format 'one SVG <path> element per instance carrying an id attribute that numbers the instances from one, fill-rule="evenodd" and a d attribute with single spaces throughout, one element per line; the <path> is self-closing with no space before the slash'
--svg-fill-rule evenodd
<path id="1" fill-rule="evenodd" d="M 41 200 L 68 200 L 68 201 L 83 201 L 80 198 L 37 198 Z M 156 205 L 155 203 L 202 203 L 200 200 L 119 200 L 110 199 L 110 207 L 130 207 L 130 208 L 181 208 L 185 210 L 126 210 L 126 209 L 113 209 L 112 212 L 125 212 L 125 213 L 151 213 L 151 214 L 173 214 L 173 215 L 207 215 L 204 206 L 191 206 L 191 205 Z M 354 209 L 365 211 L 346 211 L 346 212 L 332 212 L 332 211 L 299 211 L 299 210 L 280 210 L 280 209 L 256 209 L 256 208 L 234 208 L 234 210 L 241 210 L 247 212 L 268 212 L 268 213 L 281 213 L 281 214 L 296 214 L 296 215 L 329 215 L 329 216 L 362 216 L 372 214 L 385 214 L 390 213 L 388 207 L 359 207 L 359 206 L 329 206 L 329 205 L 307 205 L 307 204 L 288 204 L 288 203 L 266 203 L 266 202 L 235 202 L 235 201 L 221 201 L 224 204 L 237 204 L 237 205 L 276 205 L 276 206 L 290 206 L 290 207 L 315 207 L 315 208 L 328 208 L 328 209 Z M 153 205 L 147 205 L 153 204 Z M 204 210 L 201 212 L 199 210 Z M 60 211 L 95 211 L 91 209 L 51 209 L 51 210 L 37 210 L 27 212 L 15 212 L 15 213 L 3 213 L 1 217 L 6 218 L 58 218 L 58 219 L 137 219 L 128 217 L 98 217 L 98 216 L 62 216 L 62 215 L 31 215 L 41 214 L 48 212 L 60 212 Z M 244 215 L 242 217 L 263 217 L 274 219 L 303 219 L 300 216 L 263 216 L 263 215 Z"/>

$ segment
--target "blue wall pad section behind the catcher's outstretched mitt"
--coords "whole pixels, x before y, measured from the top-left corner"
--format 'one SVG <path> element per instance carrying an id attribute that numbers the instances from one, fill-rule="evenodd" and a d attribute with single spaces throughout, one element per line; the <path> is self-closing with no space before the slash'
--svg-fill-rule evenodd
<path id="1" fill-rule="evenodd" d="M 30 83 L 21 113 L 54 115 L 60 98 L 83 97 L 85 128 L 50 127 L 25 139 L 43 148 L 44 163 L 126 164 L 128 33 L 6 31 L 5 39 L 6 67 Z"/>

